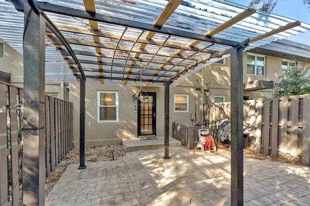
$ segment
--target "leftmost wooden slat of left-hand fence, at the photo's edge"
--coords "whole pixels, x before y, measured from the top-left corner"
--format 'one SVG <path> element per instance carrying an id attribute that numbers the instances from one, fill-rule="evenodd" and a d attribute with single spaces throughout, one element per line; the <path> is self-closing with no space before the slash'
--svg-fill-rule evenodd
<path id="1" fill-rule="evenodd" d="M 8 86 L 5 84 L 0 84 L 0 108 L 6 106 L 6 91 Z M 6 120 L 6 110 L 0 113 L 0 203 L 8 196 L 8 155 L 10 150 L 7 148 L 7 120 Z M 8 205 L 8 203 L 5 203 Z M 5 205 L 5 206 L 6 206 Z"/>

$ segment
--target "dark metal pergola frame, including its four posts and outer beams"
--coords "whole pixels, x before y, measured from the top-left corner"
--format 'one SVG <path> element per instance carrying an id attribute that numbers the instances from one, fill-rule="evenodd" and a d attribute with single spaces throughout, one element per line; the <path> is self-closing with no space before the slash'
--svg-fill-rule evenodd
<path id="1" fill-rule="evenodd" d="M 167 81 L 163 80 L 145 80 L 146 82 L 160 82 L 164 83 L 165 88 L 165 138 L 164 138 L 164 159 L 169 159 L 169 87 L 172 81 L 179 77 L 179 75 L 186 73 L 187 70 L 195 67 L 197 64 L 207 61 L 212 58 L 220 57 L 225 54 L 231 53 L 231 102 L 232 102 L 232 177 L 231 177 L 231 203 L 232 205 L 243 205 L 243 49 L 247 46 L 248 41 L 235 42 L 231 40 L 210 37 L 206 35 L 191 33 L 178 29 L 171 29 L 166 27 L 157 27 L 155 25 L 132 21 L 128 19 L 100 15 L 97 13 L 89 13 L 83 10 L 74 8 L 63 7 L 59 5 L 50 4 L 47 2 L 37 3 L 36 1 L 29 0 L 31 8 L 25 4 L 22 8 L 22 1 L 13 1 L 18 11 L 24 11 L 27 14 L 25 19 L 25 36 L 24 36 L 24 204 L 25 205 L 44 205 L 44 120 L 41 116 L 44 115 L 44 108 L 42 103 L 44 100 L 44 85 L 45 85 L 45 28 L 46 26 L 56 35 L 57 39 L 66 47 L 66 50 L 59 49 L 61 53 L 67 52 L 74 59 L 77 67 L 70 67 L 80 81 L 80 165 L 79 169 L 86 168 L 85 165 L 85 80 L 86 78 L 110 78 L 115 80 L 130 80 L 137 81 L 137 78 L 123 78 L 123 77 L 105 77 L 105 76 L 92 76 L 84 75 L 83 69 L 75 53 L 72 51 L 68 42 L 61 35 L 60 31 L 53 25 L 44 12 L 51 12 L 61 15 L 69 15 L 80 17 L 88 20 L 104 22 L 124 27 L 130 27 L 141 30 L 148 30 L 159 32 L 167 35 L 174 35 L 185 37 L 198 41 L 211 42 L 216 44 L 223 44 L 232 46 L 229 49 L 210 54 L 206 58 L 197 60 L 196 62 L 188 65 L 180 71 L 175 71 L 176 74 L 161 75 L 161 77 L 169 78 Z M 35 12 L 31 12 L 35 11 Z M 26 12 L 25 12 L 26 11 Z M 37 38 L 33 38 L 36 35 Z M 36 52 L 36 54 L 34 54 Z M 114 55 L 113 55 L 114 57 Z M 68 59 L 67 59 L 68 60 Z M 114 66 L 113 63 L 111 66 Z M 131 65 L 130 67 L 134 67 Z M 31 71 L 30 71 L 31 70 Z M 164 69 L 163 69 L 164 70 Z M 93 70 L 95 71 L 95 70 Z M 166 71 L 166 70 L 164 70 Z M 169 71 L 169 70 L 168 70 Z M 100 71 L 103 72 L 103 71 Z M 172 72 L 172 70 L 171 70 Z M 134 73 L 131 73 L 131 75 Z M 33 78 L 33 75 L 37 75 Z M 143 74 L 136 74 L 142 75 Z M 147 74 L 145 74 L 148 76 Z M 158 75 L 160 76 L 160 75 Z M 157 77 L 158 77 L 157 76 Z M 156 77 L 156 74 L 154 74 Z M 36 79 L 37 81 L 33 81 Z M 34 95 L 35 94 L 35 95 Z M 36 96 L 38 95 L 38 96 Z M 34 113 L 34 114 L 32 114 Z M 33 116 L 33 117 L 32 117 Z M 39 121 L 40 120 L 40 121 Z M 43 144 L 43 146 L 42 146 Z M 33 153 L 35 154 L 33 156 Z M 26 171 L 32 171 L 27 173 Z"/>

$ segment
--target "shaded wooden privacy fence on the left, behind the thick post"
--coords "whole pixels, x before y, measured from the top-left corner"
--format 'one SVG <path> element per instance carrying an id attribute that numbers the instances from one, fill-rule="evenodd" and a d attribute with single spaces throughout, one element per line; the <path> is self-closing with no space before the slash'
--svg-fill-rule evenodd
<path id="1" fill-rule="evenodd" d="M 22 203 L 23 89 L 0 82 L 0 205 Z M 46 174 L 72 148 L 72 103 L 46 96 Z"/>

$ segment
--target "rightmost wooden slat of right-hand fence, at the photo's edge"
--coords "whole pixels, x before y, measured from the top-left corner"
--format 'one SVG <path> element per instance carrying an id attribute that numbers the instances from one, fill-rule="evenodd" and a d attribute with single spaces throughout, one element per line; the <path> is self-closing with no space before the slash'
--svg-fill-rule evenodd
<path id="1" fill-rule="evenodd" d="M 302 158 L 303 165 L 310 166 L 310 95 L 303 100 Z"/>

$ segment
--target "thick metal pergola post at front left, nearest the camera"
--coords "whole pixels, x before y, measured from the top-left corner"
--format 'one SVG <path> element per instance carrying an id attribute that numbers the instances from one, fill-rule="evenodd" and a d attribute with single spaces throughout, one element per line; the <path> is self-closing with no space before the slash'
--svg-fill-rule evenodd
<path id="1" fill-rule="evenodd" d="M 45 26 L 41 14 L 24 6 L 23 203 L 45 204 Z"/>

